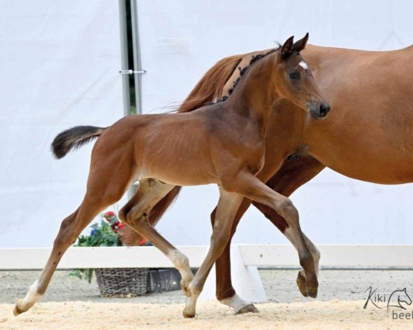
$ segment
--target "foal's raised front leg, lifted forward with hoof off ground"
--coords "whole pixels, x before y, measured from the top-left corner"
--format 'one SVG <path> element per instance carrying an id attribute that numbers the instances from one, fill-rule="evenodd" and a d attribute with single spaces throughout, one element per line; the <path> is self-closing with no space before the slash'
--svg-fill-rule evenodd
<path id="1" fill-rule="evenodd" d="M 248 172 L 244 172 L 238 175 L 236 179 L 227 182 L 224 188 L 268 206 L 268 208 L 275 210 L 275 212 L 285 219 L 291 236 L 294 237 L 294 245 L 299 254 L 299 262 L 306 274 L 306 294 L 312 298 L 317 297 L 318 281 L 315 262 L 313 255 L 308 249 L 306 238 L 301 232 L 298 211 L 290 199 L 275 192 L 260 181 L 260 179 L 257 179 L 257 177 Z"/>

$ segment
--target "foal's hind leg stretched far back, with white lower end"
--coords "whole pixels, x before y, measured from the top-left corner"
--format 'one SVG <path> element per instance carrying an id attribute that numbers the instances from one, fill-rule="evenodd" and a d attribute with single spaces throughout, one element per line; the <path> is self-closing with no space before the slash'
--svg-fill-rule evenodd
<path id="1" fill-rule="evenodd" d="M 28 311 L 37 300 L 43 296 L 50 279 L 67 248 L 72 245 L 82 230 L 99 214 L 116 203 L 122 197 L 129 184 L 130 168 L 113 166 L 115 159 L 98 162 L 98 168 L 93 164 L 87 181 L 87 192 L 81 206 L 61 223 L 59 234 L 54 240 L 52 252 L 37 281 L 29 289 L 23 299 L 17 300 L 13 309 L 14 315 Z M 116 170 L 114 170 L 116 168 Z"/>

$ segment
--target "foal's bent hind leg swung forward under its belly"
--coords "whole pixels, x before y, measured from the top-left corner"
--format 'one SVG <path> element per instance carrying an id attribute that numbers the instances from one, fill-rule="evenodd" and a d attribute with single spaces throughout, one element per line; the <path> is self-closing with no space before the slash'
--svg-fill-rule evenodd
<path id="1" fill-rule="evenodd" d="M 156 179 L 142 180 L 134 197 L 119 211 L 119 218 L 136 230 L 138 234 L 149 239 L 153 246 L 169 258 L 180 272 L 182 291 L 187 294 L 187 287 L 193 278 L 187 256 L 171 245 L 148 221 L 151 208 L 165 197 L 173 187 L 171 184 L 165 184 Z"/>

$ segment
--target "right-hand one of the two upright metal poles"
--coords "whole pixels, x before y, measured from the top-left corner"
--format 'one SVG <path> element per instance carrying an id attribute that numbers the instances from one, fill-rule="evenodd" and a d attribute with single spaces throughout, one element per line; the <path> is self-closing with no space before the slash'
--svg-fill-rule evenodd
<path id="1" fill-rule="evenodd" d="M 131 0 L 132 47 L 134 49 L 134 80 L 136 97 L 136 114 L 142 114 L 142 65 L 140 63 L 140 43 L 138 27 L 138 4 Z"/>

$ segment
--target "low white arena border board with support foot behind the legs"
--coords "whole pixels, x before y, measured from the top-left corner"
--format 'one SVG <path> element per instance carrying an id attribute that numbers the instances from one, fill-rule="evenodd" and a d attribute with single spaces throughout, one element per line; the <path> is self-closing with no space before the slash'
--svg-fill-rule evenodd
<path id="1" fill-rule="evenodd" d="M 321 267 L 413 267 L 413 245 L 317 245 Z M 191 267 L 200 267 L 208 246 L 178 246 Z M 0 270 L 41 270 L 51 248 L 2 248 Z M 297 252 L 291 245 L 231 245 L 233 285 L 243 298 L 266 300 L 257 267 L 297 267 Z M 59 270 L 105 267 L 172 267 L 152 246 L 116 248 L 70 248 Z M 201 298 L 215 297 L 215 270 L 211 270 Z"/>

